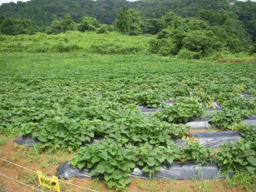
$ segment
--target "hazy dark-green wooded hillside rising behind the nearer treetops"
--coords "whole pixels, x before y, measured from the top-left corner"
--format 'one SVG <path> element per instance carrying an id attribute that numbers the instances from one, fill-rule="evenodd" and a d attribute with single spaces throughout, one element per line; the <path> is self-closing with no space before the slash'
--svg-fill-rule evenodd
<path id="1" fill-rule="evenodd" d="M 118 10 L 125 4 L 139 10 L 142 17 L 159 18 L 167 11 L 174 11 L 183 17 L 193 17 L 200 9 L 230 10 L 227 0 L 31 0 L 29 2 L 4 3 L 0 15 L 11 18 L 34 20 L 37 25 L 50 25 L 54 18 L 70 14 L 75 21 L 84 15 L 97 18 L 101 23 L 111 24 Z"/>

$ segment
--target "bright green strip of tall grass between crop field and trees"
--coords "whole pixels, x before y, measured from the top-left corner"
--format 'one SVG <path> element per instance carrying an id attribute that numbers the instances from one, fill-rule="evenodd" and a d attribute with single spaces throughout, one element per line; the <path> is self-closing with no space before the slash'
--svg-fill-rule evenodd
<path id="1" fill-rule="evenodd" d="M 36 35 L 2 36 L 0 52 L 99 52 L 105 47 L 109 54 L 146 52 L 152 35 L 129 36 L 117 32 L 96 34 L 68 31 L 58 35 L 37 33 Z M 111 47 L 111 48 L 110 48 Z M 103 52 L 102 52 L 103 53 Z M 105 52 L 106 53 L 106 52 Z"/>

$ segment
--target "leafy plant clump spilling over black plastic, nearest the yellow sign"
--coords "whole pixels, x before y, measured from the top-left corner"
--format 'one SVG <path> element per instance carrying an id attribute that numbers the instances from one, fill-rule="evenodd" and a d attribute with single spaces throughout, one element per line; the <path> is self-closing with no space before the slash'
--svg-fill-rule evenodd
<path id="1" fill-rule="evenodd" d="M 109 187 L 124 189 L 131 182 L 131 169 L 138 161 L 131 149 L 118 143 L 101 141 L 81 147 L 71 159 L 71 164 L 82 169 L 91 169 L 91 176 L 103 175 Z"/>

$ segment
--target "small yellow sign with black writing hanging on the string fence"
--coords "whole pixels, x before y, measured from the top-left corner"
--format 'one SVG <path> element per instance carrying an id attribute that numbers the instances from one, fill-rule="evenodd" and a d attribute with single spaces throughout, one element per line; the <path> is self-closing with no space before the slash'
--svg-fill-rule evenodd
<path id="1" fill-rule="evenodd" d="M 59 180 L 54 175 L 51 178 L 43 176 L 41 171 L 37 171 L 38 180 L 41 186 L 60 192 Z"/>

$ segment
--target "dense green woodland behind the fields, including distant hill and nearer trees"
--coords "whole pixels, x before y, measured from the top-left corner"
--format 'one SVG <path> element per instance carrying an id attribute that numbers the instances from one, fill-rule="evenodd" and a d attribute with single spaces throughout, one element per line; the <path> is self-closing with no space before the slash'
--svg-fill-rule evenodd
<path id="1" fill-rule="evenodd" d="M 4 3 L 0 14 L 4 35 L 68 30 L 151 34 L 149 53 L 187 59 L 256 50 L 256 3 L 251 1 L 32 0 Z"/>

